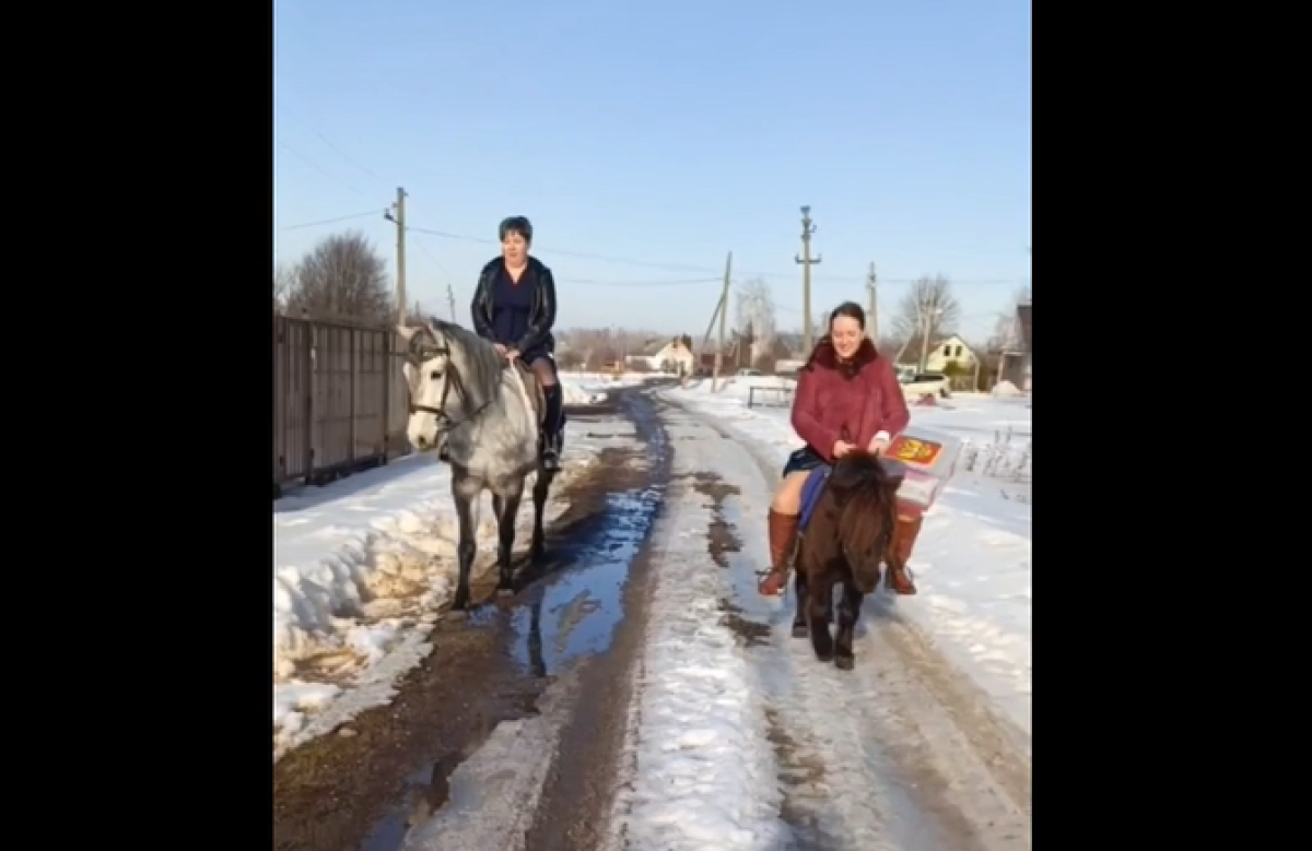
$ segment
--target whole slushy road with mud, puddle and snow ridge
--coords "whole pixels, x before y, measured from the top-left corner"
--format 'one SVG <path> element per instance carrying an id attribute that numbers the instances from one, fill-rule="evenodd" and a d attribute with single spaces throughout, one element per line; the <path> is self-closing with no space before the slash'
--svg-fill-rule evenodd
<path id="1" fill-rule="evenodd" d="M 756 594 L 774 460 L 642 389 L 569 427 L 607 448 L 555 569 L 276 766 L 276 848 L 1031 847 L 1029 736 L 896 602 L 844 673 Z"/>

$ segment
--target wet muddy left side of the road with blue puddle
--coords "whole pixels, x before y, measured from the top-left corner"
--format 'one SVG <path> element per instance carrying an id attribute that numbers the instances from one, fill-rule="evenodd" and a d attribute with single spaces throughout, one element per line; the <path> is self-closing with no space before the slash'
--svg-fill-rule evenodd
<path id="1" fill-rule="evenodd" d="M 541 791 L 538 775 L 550 772 L 551 793 L 496 818 L 482 802 L 480 825 L 447 823 L 443 834 L 464 848 L 502 848 L 518 833 L 525 847 L 565 851 L 604 821 L 623 736 L 613 709 L 628 699 L 649 570 L 642 553 L 669 452 L 652 403 L 634 389 L 571 409 L 568 439 L 600 448 L 600 459 L 565 492 L 547 559 L 522 566 L 510 601 L 493 599 L 495 574 L 476 577 L 483 604 L 438 620 L 433 652 L 388 705 L 274 764 L 274 851 L 396 851 L 434 814 L 459 822 L 453 772 L 525 728 L 543 750 L 517 759 L 525 778 L 516 782 Z M 567 758 L 551 759 L 556 750 Z"/>

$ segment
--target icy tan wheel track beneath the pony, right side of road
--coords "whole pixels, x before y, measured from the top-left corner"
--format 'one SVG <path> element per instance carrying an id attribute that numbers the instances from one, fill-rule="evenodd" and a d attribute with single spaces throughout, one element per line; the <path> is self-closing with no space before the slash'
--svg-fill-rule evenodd
<path id="1" fill-rule="evenodd" d="M 777 471 L 752 442 L 677 403 L 672 406 L 687 414 L 674 421 L 680 426 L 703 426 L 736 443 L 754 462 L 762 484 L 774 481 Z M 764 523 L 748 519 L 752 527 L 764 535 Z M 736 565 L 739 573 L 754 574 L 748 566 Z M 773 641 L 768 637 L 765 646 L 753 644 L 745 652 L 761 669 L 766 692 L 768 738 L 783 793 L 779 818 L 792 833 L 785 847 L 1031 847 L 1027 737 L 998 719 L 979 688 L 945 662 L 891 601 L 879 595 L 867 603 L 857 670 L 848 674 L 821 665 L 808 643 L 790 637 L 791 594 L 777 611 L 752 597 L 745 582 L 736 590 L 741 606 L 760 620 L 731 629 L 773 633 Z M 750 620 L 735 610 L 740 620 Z"/>

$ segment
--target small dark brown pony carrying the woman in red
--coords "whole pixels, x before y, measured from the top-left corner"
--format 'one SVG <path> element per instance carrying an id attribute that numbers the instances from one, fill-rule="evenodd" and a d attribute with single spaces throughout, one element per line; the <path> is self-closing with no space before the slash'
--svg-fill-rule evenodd
<path id="1" fill-rule="evenodd" d="M 853 451 L 841 458 L 816 504 L 798 548 L 794 590 L 798 610 L 792 635 L 811 636 L 816 658 L 850 671 L 855 663 L 851 639 L 861 618 L 861 602 L 879 587 L 879 563 L 892 568 L 893 530 L 897 528 L 897 486 L 878 455 Z M 837 641 L 829 635 L 833 586 L 842 584 Z"/>

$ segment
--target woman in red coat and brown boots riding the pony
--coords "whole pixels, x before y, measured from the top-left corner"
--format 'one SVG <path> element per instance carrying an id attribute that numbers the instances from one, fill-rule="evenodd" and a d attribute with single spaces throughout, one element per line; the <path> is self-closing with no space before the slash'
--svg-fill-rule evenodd
<path id="1" fill-rule="evenodd" d="M 807 445 L 789 458 L 770 504 L 770 572 L 761 580 L 762 594 L 782 594 L 787 585 L 798 542 L 802 485 L 811 471 L 833 464 L 854 448 L 883 451 L 909 421 L 892 365 L 866 338 L 866 312 L 855 302 L 840 304 L 829 313 L 829 333 L 798 376 L 792 429 Z M 918 532 L 918 519 L 899 521 L 893 545 L 909 553 Z M 888 586 L 897 594 L 916 593 L 901 570 L 888 572 Z"/>

